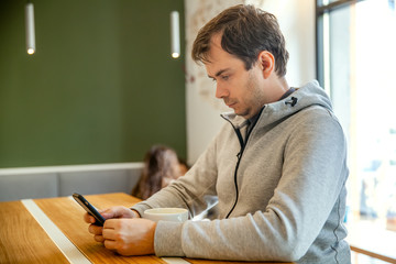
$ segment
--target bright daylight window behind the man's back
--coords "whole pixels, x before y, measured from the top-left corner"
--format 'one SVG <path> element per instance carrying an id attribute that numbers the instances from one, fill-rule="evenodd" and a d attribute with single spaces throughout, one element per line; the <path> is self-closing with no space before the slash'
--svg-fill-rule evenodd
<path id="1" fill-rule="evenodd" d="M 345 220 L 396 235 L 395 64 L 395 0 L 317 1 L 317 76 L 349 144 Z"/>

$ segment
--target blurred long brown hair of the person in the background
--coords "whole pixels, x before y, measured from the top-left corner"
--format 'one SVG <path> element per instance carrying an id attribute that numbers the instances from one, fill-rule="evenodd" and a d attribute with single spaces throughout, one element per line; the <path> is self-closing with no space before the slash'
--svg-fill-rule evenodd
<path id="1" fill-rule="evenodd" d="M 163 145 L 153 146 L 144 156 L 144 167 L 132 196 L 147 199 L 166 186 L 166 179 L 180 176 L 177 154 Z"/>

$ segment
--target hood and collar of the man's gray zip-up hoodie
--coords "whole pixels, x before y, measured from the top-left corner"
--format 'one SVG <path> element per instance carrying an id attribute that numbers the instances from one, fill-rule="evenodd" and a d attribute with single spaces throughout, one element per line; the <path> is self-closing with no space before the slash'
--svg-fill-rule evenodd
<path id="1" fill-rule="evenodd" d="M 267 125 L 311 106 L 319 106 L 332 112 L 331 101 L 317 80 L 296 88 L 295 92 L 279 101 L 264 105 L 258 120 L 261 125 Z M 221 117 L 231 122 L 235 129 L 241 129 L 248 124 L 244 118 L 234 112 L 226 112 Z"/>

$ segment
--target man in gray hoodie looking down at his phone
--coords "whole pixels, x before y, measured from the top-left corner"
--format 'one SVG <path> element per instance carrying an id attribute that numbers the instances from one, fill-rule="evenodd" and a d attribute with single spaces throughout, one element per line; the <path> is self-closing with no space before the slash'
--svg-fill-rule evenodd
<path id="1" fill-rule="evenodd" d="M 229 8 L 200 30 L 193 57 L 234 112 L 222 116 L 228 122 L 184 177 L 132 210 L 103 211 L 103 229 L 89 228 L 95 239 L 123 255 L 350 263 L 344 135 L 317 81 L 288 86 L 275 16 Z M 194 217 L 213 195 L 213 221 L 139 218 L 155 207 L 188 208 Z"/>

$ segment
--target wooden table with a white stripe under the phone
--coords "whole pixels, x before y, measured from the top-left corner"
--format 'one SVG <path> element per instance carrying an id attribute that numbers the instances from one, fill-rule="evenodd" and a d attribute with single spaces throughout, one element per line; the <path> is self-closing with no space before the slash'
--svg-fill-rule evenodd
<path id="1" fill-rule="evenodd" d="M 125 194 L 90 195 L 98 208 L 131 207 Z M 0 202 L 0 263 L 242 263 L 179 257 L 121 256 L 95 242 L 72 197 Z M 250 262 L 251 263 L 251 262 Z"/>

